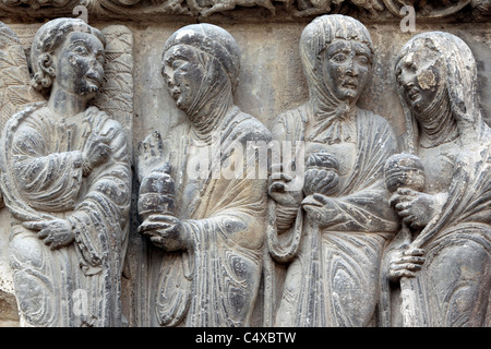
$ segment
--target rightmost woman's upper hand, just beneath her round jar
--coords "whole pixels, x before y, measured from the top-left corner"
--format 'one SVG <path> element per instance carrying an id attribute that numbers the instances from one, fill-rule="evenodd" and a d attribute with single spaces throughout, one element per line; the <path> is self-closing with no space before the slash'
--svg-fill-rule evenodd
<path id="1" fill-rule="evenodd" d="M 440 208 L 433 195 L 407 188 L 397 189 L 390 203 L 403 218 L 403 222 L 414 229 L 424 228 Z"/>

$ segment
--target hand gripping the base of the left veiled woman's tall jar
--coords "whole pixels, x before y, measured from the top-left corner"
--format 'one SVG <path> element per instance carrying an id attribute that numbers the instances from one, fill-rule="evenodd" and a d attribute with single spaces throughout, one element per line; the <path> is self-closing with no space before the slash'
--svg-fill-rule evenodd
<path id="1" fill-rule="evenodd" d="M 148 237 L 158 248 L 165 251 L 185 249 L 184 229 L 180 220 L 171 215 L 151 215 L 139 227 L 139 232 Z"/>

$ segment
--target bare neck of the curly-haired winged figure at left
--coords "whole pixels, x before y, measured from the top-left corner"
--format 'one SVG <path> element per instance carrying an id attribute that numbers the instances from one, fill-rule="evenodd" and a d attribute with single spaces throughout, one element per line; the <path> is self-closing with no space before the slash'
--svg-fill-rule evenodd
<path id="1" fill-rule="evenodd" d="M 87 96 L 69 93 L 53 81 L 48 108 L 60 116 L 72 117 L 85 111 L 87 100 Z"/>

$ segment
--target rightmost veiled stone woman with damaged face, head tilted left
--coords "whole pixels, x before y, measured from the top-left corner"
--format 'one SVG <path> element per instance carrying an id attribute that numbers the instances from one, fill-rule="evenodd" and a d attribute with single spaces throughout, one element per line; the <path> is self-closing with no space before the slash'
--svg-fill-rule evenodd
<path id="1" fill-rule="evenodd" d="M 476 61 L 460 38 L 430 32 L 404 46 L 395 73 L 407 151 L 421 159 L 426 185 L 398 189 L 391 200 L 411 234 L 399 233 L 387 249 L 382 324 L 484 326 L 491 131 L 479 107 Z"/>

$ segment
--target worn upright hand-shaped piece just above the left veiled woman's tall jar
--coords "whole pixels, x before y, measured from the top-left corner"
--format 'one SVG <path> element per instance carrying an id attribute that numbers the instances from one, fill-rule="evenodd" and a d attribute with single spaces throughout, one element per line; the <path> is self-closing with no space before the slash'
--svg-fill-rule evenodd
<path id="1" fill-rule="evenodd" d="M 148 134 L 137 145 L 136 172 L 140 182 L 153 171 L 170 172 L 164 158 L 164 144 L 158 131 Z"/>

